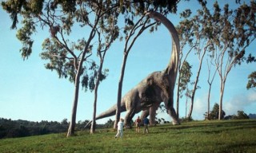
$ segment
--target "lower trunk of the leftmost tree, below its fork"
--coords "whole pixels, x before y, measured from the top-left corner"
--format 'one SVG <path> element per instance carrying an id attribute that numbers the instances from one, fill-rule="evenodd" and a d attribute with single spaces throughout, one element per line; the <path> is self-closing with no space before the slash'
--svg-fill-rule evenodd
<path id="1" fill-rule="evenodd" d="M 80 84 L 80 75 L 79 74 L 80 73 L 77 73 L 76 77 L 75 77 L 74 102 L 73 102 L 73 108 L 72 108 L 72 112 L 71 112 L 70 127 L 66 134 L 67 137 L 74 135 L 75 121 L 76 121 L 77 108 L 78 108 L 79 84 Z"/>

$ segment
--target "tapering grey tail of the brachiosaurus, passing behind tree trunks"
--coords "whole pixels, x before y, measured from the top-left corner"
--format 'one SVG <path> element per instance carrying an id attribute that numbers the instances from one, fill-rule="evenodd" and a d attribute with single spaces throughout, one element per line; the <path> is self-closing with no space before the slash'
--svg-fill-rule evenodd
<path id="1" fill-rule="evenodd" d="M 103 119 L 106 117 L 114 116 L 117 111 L 117 105 L 114 104 L 110 109 L 108 109 L 106 112 L 102 112 L 100 115 L 98 115 L 95 120 Z M 121 103 L 121 110 L 120 112 L 125 112 L 126 111 L 126 105 L 125 103 Z M 92 123 L 92 120 L 86 124 L 85 128 L 88 127 Z"/>

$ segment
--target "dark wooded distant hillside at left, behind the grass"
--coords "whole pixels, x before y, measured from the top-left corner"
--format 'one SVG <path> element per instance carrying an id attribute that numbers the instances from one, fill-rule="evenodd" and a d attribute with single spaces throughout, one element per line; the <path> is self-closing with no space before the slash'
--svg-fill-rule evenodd
<path id="1" fill-rule="evenodd" d="M 78 121 L 76 131 L 85 130 L 89 120 Z M 109 120 L 106 124 L 97 124 L 96 128 L 110 128 L 114 126 L 114 121 Z M 46 135 L 50 133 L 62 133 L 69 127 L 67 119 L 62 122 L 42 120 L 34 122 L 29 120 L 10 120 L 0 117 L 0 139 L 17 138 L 31 135 Z M 88 127 L 90 129 L 90 127 Z M 1 151 L 0 151 L 1 152 Z"/>

